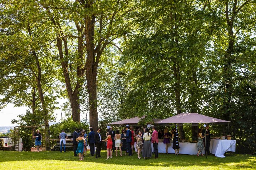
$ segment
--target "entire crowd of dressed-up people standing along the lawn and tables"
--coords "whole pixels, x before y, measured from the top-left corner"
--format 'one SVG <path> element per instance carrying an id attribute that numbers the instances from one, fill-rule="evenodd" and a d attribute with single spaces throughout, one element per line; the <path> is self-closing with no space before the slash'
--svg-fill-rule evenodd
<path id="1" fill-rule="evenodd" d="M 101 129 L 98 128 L 96 133 L 93 131 L 93 128 L 89 128 L 90 132 L 88 135 L 85 133 L 84 129 L 75 129 L 73 132 L 73 148 L 74 148 L 74 156 L 79 156 L 79 160 L 83 160 L 84 155 L 86 155 L 87 146 L 90 147 L 90 154 L 95 158 L 101 158 L 101 147 L 102 142 L 106 142 L 107 147 L 107 159 L 112 158 L 112 154 L 115 153 L 115 156 L 118 156 L 118 149 L 120 151 L 120 156 L 122 156 L 122 151 L 125 151 L 125 155 L 128 156 L 133 155 L 134 144 L 136 141 L 136 149 L 138 154 L 138 159 L 141 159 L 141 152 L 143 159 L 152 157 L 152 148 L 151 143 L 153 144 L 153 150 L 155 158 L 158 158 L 158 139 L 163 139 L 163 143 L 165 143 L 166 154 L 168 154 L 168 146 L 171 143 L 171 139 L 173 139 L 172 148 L 175 150 L 175 155 L 179 154 L 179 134 L 176 128 L 169 130 L 166 128 L 164 130 L 157 131 L 155 126 L 152 127 L 152 134 L 150 133 L 149 128 L 143 128 L 143 131 L 136 127 L 135 131 L 133 126 L 126 125 L 122 132 L 119 130 L 114 131 L 112 127 L 107 129 L 106 139 L 102 138 Z M 207 125 L 205 130 L 198 129 L 198 142 L 197 142 L 197 156 L 203 155 L 203 146 L 206 146 L 207 153 L 210 153 L 210 130 Z M 35 145 L 39 152 L 39 148 L 42 145 L 41 143 L 41 133 L 39 130 L 36 131 L 33 138 L 35 138 Z M 67 134 L 62 130 L 59 134 L 60 139 L 60 152 L 62 152 L 62 144 L 63 151 L 66 152 L 66 139 L 68 138 Z M 206 143 L 203 138 L 206 138 Z M 88 145 L 87 145 L 88 144 Z M 96 147 L 96 151 L 95 151 Z"/>

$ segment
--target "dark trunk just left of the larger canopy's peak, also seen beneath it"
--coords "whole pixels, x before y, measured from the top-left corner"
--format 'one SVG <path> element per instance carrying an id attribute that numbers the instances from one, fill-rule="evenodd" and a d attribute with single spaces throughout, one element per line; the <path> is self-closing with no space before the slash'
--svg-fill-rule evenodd
<path id="1" fill-rule="evenodd" d="M 180 66 L 175 62 L 174 66 L 173 66 L 173 71 L 174 71 L 174 78 L 175 78 L 174 92 L 175 92 L 177 114 L 181 113 L 180 71 L 179 71 L 179 68 L 180 68 Z M 178 130 L 179 130 L 180 138 L 185 139 L 185 133 L 184 133 L 184 129 L 183 129 L 182 124 L 178 125 Z"/>

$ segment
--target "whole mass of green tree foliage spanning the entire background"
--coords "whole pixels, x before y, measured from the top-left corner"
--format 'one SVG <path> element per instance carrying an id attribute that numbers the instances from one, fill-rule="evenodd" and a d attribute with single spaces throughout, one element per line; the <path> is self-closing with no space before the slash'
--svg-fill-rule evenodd
<path id="1" fill-rule="evenodd" d="M 77 111 L 101 115 L 104 129 L 134 116 L 148 115 L 140 122 L 146 124 L 197 112 L 230 120 L 237 152 L 254 154 L 255 6 L 251 0 L 1 1 L 0 109 L 26 106 L 32 113 L 12 122 L 44 124 L 55 120 L 57 97 L 75 98 Z M 62 106 L 67 116 L 71 106 Z M 68 119 L 51 126 L 51 135 L 75 128 L 88 129 L 87 122 Z M 190 126 L 184 130 L 193 138 Z M 228 133 L 222 125 L 211 130 Z M 28 148 L 30 130 L 20 134 Z"/>

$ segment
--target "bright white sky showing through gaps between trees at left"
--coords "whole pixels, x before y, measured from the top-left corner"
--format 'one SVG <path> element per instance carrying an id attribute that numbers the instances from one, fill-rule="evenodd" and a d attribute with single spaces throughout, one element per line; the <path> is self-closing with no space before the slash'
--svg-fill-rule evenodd
<path id="1" fill-rule="evenodd" d="M 58 99 L 58 107 L 60 107 L 66 99 Z M 0 111 L 0 126 L 15 126 L 17 124 L 11 124 L 12 119 L 18 119 L 19 114 L 25 114 L 26 107 L 14 107 L 13 104 L 7 104 L 7 106 Z M 55 110 L 54 114 L 57 115 L 56 122 L 60 122 L 61 119 L 61 109 Z M 81 120 L 86 117 L 86 114 L 81 114 Z M 62 113 L 62 119 L 65 118 L 65 114 Z M 87 114 L 87 120 L 89 120 L 89 114 Z"/>

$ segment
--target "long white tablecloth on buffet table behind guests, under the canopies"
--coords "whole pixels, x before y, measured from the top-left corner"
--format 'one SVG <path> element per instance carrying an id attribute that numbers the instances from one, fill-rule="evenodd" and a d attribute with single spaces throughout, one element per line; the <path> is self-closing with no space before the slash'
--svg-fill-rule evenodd
<path id="1" fill-rule="evenodd" d="M 134 144 L 135 151 L 137 152 L 136 149 L 136 142 Z M 153 144 L 151 144 L 152 147 L 152 152 L 153 152 Z M 179 153 L 180 154 L 188 154 L 188 155 L 196 155 L 197 154 L 197 144 L 196 143 L 179 143 Z M 165 151 L 165 143 L 159 142 L 158 143 L 158 152 L 159 153 L 166 153 Z M 169 143 L 168 145 L 168 153 L 169 154 L 174 154 L 174 149 L 173 149 L 173 143 Z M 205 151 L 203 151 L 205 153 Z"/>

